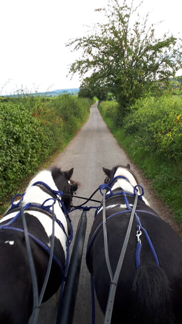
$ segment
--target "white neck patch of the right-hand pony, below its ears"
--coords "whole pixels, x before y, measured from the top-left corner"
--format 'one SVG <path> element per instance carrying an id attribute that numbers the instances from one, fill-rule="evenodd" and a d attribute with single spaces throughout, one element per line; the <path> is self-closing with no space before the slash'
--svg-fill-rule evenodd
<path id="1" fill-rule="evenodd" d="M 133 187 L 137 185 L 137 182 L 133 176 L 133 174 L 124 167 L 118 167 L 114 177 L 122 175 L 125 176 L 126 179 L 118 178 L 116 182 L 112 186 L 112 190 L 121 188 L 122 190 L 133 193 Z"/>

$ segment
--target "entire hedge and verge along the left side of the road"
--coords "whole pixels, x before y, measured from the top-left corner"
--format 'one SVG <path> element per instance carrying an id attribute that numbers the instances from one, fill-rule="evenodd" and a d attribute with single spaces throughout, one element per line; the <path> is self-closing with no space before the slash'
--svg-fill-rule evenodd
<path id="1" fill-rule="evenodd" d="M 61 152 L 89 117 L 90 99 L 25 96 L 0 102 L 0 213 L 50 156 Z"/>

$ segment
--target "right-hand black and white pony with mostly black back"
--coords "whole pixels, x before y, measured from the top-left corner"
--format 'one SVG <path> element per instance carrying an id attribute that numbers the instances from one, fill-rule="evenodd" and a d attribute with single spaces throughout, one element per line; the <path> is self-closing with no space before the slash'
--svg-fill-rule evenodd
<path id="1" fill-rule="evenodd" d="M 136 189 L 135 209 L 126 252 L 115 292 L 112 324 L 182 324 L 182 242 L 168 223 L 142 196 L 130 165 L 118 165 L 107 175 L 106 233 L 110 271 L 115 273 L 121 255 Z M 111 279 L 104 250 L 103 205 L 92 224 L 87 266 L 93 275 L 99 306 L 105 314 Z M 112 284 L 113 285 L 113 284 Z M 114 285 L 113 285 L 114 286 Z M 109 305 L 113 303 L 109 300 Z M 104 322 L 107 323 L 107 322 Z"/>

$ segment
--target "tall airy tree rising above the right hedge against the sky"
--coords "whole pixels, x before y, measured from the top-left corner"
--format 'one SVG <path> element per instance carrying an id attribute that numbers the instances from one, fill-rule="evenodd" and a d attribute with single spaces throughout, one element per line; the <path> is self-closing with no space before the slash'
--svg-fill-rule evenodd
<path id="1" fill-rule="evenodd" d="M 136 99 L 142 97 L 154 81 L 167 83 L 182 67 L 182 50 L 177 38 L 164 34 L 155 37 L 154 26 L 148 27 L 148 15 L 141 20 L 139 6 L 108 2 L 107 8 L 96 9 L 106 16 L 106 23 L 97 23 L 90 34 L 76 38 L 67 46 L 83 50 L 82 57 L 70 73 L 96 73 L 98 82 L 113 93 L 123 116 Z M 132 23 L 132 19 L 135 22 Z M 181 40 L 179 40 L 181 41 Z"/>

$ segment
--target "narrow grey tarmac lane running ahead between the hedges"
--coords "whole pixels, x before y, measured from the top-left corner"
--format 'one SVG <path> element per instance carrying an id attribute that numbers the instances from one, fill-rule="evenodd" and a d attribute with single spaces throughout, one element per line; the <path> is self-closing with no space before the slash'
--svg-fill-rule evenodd
<path id="1" fill-rule="evenodd" d="M 119 147 L 117 141 L 108 130 L 97 110 L 97 103 L 91 107 L 91 114 L 88 122 L 51 166 L 56 165 L 61 167 L 62 170 L 68 170 L 74 167 L 72 178 L 81 183 L 81 186 L 77 190 L 77 194 L 79 196 L 83 195 L 84 197 L 89 197 L 91 193 L 104 182 L 105 175 L 102 166 L 111 168 L 117 164 L 126 165 L 127 163 L 130 163 L 131 169 L 138 178 L 139 184 L 144 187 L 145 197 L 150 201 L 151 207 L 175 228 L 176 225 L 170 219 L 169 211 L 152 193 L 150 182 L 144 178 L 141 171 L 129 160 L 128 156 Z M 101 200 L 99 192 L 97 192 L 94 197 L 95 199 Z M 73 200 L 74 204 L 80 204 L 82 202 L 83 200 L 81 199 L 75 198 Z M 88 205 L 96 205 L 96 203 L 92 202 L 92 204 Z M 90 274 L 87 270 L 85 260 L 88 237 L 93 222 L 93 214 L 94 211 L 92 210 L 87 212 L 87 232 L 73 324 L 91 324 Z M 81 211 L 74 211 L 70 215 L 74 233 L 76 233 Z M 54 295 L 49 301 L 42 304 L 38 324 L 56 324 L 57 295 Z M 103 315 L 97 304 L 95 313 L 95 324 L 102 324 Z"/>

